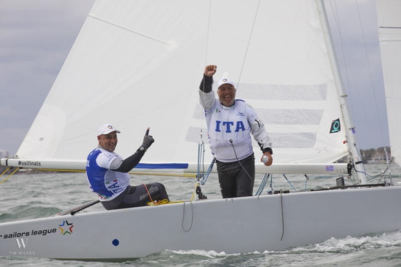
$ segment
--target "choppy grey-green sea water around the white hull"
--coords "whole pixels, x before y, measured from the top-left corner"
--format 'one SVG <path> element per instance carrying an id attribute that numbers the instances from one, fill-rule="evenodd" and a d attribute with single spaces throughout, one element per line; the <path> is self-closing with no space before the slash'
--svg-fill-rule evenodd
<path id="1" fill-rule="evenodd" d="M 366 164 L 366 173 L 374 176 L 386 165 Z M 401 168 L 390 166 L 392 182 L 401 183 Z M 336 176 L 338 177 L 338 176 Z M 335 186 L 336 177 L 287 175 L 298 191 Z M 4 179 L 5 176 L 0 179 Z M 263 175 L 257 175 L 254 193 Z M 378 182 L 381 176 L 370 178 Z M 352 181 L 344 177 L 346 185 Z M 131 184 L 162 182 L 170 200 L 190 200 L 194 178 L 136 176 Z M 389 182 L 388 173 L 386 181 Z M 380 182 L 383 182 L 381 178 Z M 274 175 L 273 190 L 294 189 L 282 175 Z M 270 181 L 262 194 L 270 189 Z M 217 175 L 209 177 L 202 191 L 209 199 L 221 198 Z M 85 173 L 20 173 L 0 185 L 0 222 L 41 218 L 96 199 L 90 192 Z M 380 201 L 379 199 L 377 201 Z M 97 204 L 100 205 L 100 204 Z M 385 205 L 385 203 L 383 203 Z M 357 237 L 330 238 L 324 242 L 292 247 L 281 251 L 227 254 L 205 250 L 163 250 L 143 258 L 124 262 L 88 262 L 72 260 L 0 258 L 0 266 L 401 266 L 401 231 Z"/>

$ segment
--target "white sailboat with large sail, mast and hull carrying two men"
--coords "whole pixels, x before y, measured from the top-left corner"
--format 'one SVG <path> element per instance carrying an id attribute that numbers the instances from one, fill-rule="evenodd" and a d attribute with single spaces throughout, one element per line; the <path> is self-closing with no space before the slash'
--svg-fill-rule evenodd
<path id="1" fill-rule="evenodd" d="M 98 125 L 110 122 L 120 144 L 141 140 L 149 125 L 156 137 L 134 171 L 194 172 L 207 142 L 197 88 L 213 63 L 236 77 L 237 97 L 270 134 L 274 164 L 257 172 L 337 174 L 355 185 L 6 222 L 0 255 L 245 253 L 401 228 L 401 187 L 367 184 L 332 44 L 322 1 L 96 2 L 17 155 L 2 165 L 83 170 Z M 351 163 L 332 163 L 345 155 Z"/>

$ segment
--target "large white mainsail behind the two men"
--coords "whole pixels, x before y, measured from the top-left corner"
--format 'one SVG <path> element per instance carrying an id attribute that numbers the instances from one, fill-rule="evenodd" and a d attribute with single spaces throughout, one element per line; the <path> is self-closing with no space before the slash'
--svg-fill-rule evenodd
<path id="1" fill-rule="evenodd" d="M 348 154 L 315 1 L 98 1 L 16 157 L 85 161 L 98 126 L 111 123 L 123 157 L 150 127 L 148 163 L 196 162 L 203 129 L 210 162 L 197 93 L 206 64 L 218 66 L 215 79 L 229 72 L 239 82 L 275 163 Z"/>

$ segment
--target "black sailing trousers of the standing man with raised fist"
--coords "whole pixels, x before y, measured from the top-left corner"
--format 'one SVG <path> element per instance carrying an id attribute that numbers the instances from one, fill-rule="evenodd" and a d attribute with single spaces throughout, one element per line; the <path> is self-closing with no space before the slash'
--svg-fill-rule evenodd
<path id="1" fill-rule="evenodd" d="M 239 162 L 227 163 L 218 160 L 216 162 L 223 198 L 252 195 L 255 181 L 255 156 L 253 153 Z"/>

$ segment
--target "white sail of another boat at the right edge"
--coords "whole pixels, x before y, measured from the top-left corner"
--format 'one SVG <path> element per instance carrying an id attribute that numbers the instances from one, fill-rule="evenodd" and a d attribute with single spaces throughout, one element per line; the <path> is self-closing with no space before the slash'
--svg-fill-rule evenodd
<path id="1" fill-rule="evenodd" d="M 401 165 L 401 1 L 376 1 L 391 156 Z"/>

